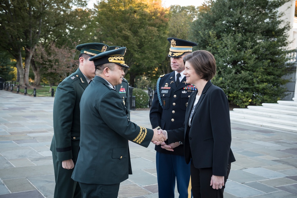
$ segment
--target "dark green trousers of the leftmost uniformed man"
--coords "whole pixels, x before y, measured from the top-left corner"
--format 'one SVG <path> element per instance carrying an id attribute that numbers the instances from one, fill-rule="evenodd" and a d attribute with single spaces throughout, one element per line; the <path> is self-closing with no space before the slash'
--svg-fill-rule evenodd
<path id="1" fill-rule="evenodd" d="M 64 169 L 62 161 L 59 161 L 55 154 L 53 154 L 53 165 L 56 181 L 54 198 L 81 198 L 78 182 L 71 179 L 73 169 Z"/>

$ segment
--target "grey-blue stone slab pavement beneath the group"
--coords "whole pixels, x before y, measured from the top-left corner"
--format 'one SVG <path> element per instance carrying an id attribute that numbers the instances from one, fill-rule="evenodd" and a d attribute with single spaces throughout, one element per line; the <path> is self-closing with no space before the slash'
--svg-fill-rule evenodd
<path id="1" fill-rule="evenodd" d="M 52 97 L 0 90 L 0 198 L 53 197 L 52 109 Z M 131 120 L 150 127 L 149 111 L 132 111 Z M 225 198 L 297 197 L 297 134 L 235 122 L 231 127 L 236 162 Z M 154 145 L 129 144 L 133 175 L 121 183 L 119 198 L 157 198 Z"/>

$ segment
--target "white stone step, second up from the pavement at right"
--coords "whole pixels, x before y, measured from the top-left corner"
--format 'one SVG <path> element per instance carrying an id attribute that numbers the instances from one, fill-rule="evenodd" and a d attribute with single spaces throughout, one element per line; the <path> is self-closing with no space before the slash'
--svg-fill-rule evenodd
<path id="1" fill-rule="evenodd" d="M 281 119 L 281 118 L 272 118 L 272 117 L 266 117 L 266 116 L 261 116 L 261 115 L 252 115 L 252 114 L 244 114 L 244 113 L 239 113 L 236 111 L 230 111 L 230 118 L 231 116 L 235 116 L 238 118 L 243 118 L 243 119 L 249 119 L 249 120 L 255 120 L 259 122 L 266 122 L 266 123 L 278 123 L 282 125 L 288 125 L 288 126 L 295 126 L 297 127 L 297 121 L 293 120 L 286 120 L 286 119 Z"/>

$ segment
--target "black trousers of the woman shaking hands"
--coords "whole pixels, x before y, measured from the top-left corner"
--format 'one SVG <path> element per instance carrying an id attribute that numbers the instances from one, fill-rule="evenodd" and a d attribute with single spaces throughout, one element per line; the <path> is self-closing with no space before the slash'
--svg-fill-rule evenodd
<path id="1" fill-rule="evenodd" d="M 195 168 L 191 162 L 191 181 L 193 198 L 223 198 L 223 193 L 230 173 L 231 164 L 228 164 L 227 176 L 224 178 L 222 189 L 213 189 L 210 186 L 212 168 Z"/>

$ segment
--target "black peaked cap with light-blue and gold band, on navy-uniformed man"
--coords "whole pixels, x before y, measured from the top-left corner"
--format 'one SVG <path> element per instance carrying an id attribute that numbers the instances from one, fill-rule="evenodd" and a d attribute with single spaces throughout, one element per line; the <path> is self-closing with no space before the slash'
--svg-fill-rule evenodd
<path id="1" fill-rule="evenodd" d="M 172 37 L 168 38 L 167 40 L 170 42 L 168 56 L 173 58 L 181 57 L 186 52 L 192 52 L 192 47 L 197 45 L 197 43 L 191 41 Z"/>

